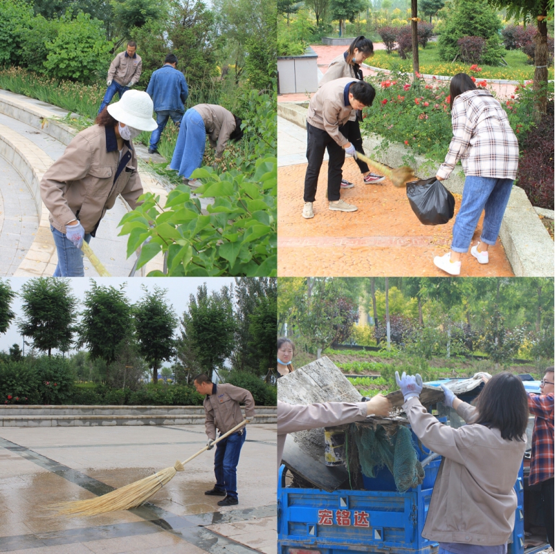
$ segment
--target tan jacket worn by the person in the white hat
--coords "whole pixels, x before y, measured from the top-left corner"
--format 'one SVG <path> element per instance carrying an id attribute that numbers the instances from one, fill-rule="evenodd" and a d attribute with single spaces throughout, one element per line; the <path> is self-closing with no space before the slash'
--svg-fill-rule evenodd
<path id="1" fill-rule="evenodd" d="M 73 138 L 40 183 L 41 198 L 51 214 L 53 227 L 64 233 L 66 223 L 79 219 L 85 232 L 94 234 L 118 194 L 132 209 L 136 207 L 143 185 L 135 151 L 129 146 L 129 142 L 124 142 L 120 160 L 115 131 L 100 125 Z"/>

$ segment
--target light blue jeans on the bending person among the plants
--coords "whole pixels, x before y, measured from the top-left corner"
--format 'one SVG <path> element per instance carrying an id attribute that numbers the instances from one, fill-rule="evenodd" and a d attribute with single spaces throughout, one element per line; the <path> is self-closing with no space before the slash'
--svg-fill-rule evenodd
<path id="1" fill-rule="evenodd" d="M 205 146 L 206 130 L 201 114 L 194 108 L 188 109 L 179 126 L 170 169 L 190 179 L 192 172 L 202 165 Z"/>

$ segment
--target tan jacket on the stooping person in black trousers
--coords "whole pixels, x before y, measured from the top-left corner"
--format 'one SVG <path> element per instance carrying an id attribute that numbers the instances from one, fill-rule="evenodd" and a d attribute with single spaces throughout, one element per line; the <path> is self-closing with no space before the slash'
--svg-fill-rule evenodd
<path id="1" fill-rule="evenodd" d="M 352 116 L 353 108 L 349 103 L 349 89 L 347 87 L 347 101 L 345 102 L 345 87 L 357 81 L 352 77 L 342 77 L 323 85 L 310 99 L 307 121 L 318 129 L 326 131 L 340 147 L 349 140 L 339 132 Z"/>

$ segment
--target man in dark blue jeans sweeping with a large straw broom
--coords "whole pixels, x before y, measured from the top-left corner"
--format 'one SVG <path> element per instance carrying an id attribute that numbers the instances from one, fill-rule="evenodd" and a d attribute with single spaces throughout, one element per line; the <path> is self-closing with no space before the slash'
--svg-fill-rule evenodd
<path id="1" fill-rule="evenodd" d="M 243 421 L 239 403 L 245 405 L 247 420 L 252 420 L 254 417 L 255 401 L 248 390 L 235 387 L 229 383 L 219 383 L 217 385 L 204 374 L 195 377 L 193 382 L 197 392 L 206 394 L 203 406 L 206 415 L 205 426 L 209 450 L 212 448 L 212 441 L 216 439 L 216 430 L 219 430 L 221 436 Z M 245 438 L 246 428 L 243 427 L 217 443 L 214 456 L 216 484 L 204 494 L 225 496 L 223 500 L 218 502 L 218 506 L 239 504 L 237 497 L 237 463 L 239 463 L 239 454 L 241 454 Z"/>

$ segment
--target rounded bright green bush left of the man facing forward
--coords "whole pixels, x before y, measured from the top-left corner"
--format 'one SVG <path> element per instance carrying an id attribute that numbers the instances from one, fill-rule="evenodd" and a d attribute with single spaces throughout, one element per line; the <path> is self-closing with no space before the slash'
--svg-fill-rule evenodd
<path id="1" fill-rule="evenodd" d="M 111 57 L 111 41 L 106 40 L 102 22 L 80 12 L 75 19 L 60 19 L 60 31 L 46 43 L 48 56 L 44 66 L 56 79 L 91 81 L 103 71 Z"/>

